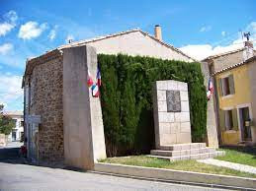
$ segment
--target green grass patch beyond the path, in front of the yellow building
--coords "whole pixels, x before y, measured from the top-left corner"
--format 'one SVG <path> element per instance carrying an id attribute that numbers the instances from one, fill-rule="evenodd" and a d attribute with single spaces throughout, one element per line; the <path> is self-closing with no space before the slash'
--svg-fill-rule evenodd
<path id="1" fill-rule="evenodd" d="M 228 148 L 220 149 L 225 152 L 225 156 L 217 157 L 225 161 L 241 163 L 256 167 L 256 148 Z"/>

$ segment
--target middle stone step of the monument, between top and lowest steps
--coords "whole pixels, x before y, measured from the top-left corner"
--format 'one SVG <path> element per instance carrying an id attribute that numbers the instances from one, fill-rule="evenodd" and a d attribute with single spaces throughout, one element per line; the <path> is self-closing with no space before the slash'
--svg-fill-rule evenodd
<path id="1" fill-rule="evenodd" d="M 190 149 L 190 150 L 180 150 L 180 151 L 151 150 L 150 154 L 152 156 L 181 157 L 181 156 L 198 155 L 198 154 L 213 153 L 213 152 L 215 152 L 214 148 L 200 148 L 200 149 Z"/>

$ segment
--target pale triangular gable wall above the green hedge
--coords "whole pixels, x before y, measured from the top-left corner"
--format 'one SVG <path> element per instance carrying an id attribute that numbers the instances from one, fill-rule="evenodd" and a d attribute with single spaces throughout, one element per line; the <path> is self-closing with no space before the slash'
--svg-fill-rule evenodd
<path id="1" fill-rule="evenodd" d="M 99 41 L 88 42 L 87 44 L 94 46 L 97 53 L 123 53 L 132 56 L 140 55 L 187 62 L 193 61 L 189 57 L 166 47 L 141 32 L 129 32 L 127 34 L 117 35 Z"/>

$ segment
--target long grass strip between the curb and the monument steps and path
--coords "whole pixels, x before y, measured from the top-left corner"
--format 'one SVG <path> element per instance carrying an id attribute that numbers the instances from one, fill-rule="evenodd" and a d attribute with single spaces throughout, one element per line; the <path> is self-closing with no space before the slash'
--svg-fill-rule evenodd
<path id="1" fill-rule="evenodd" d="M 165 159 L 149 158 L 145 156 L 129 156 L 129 157 L 121 157 L 121 158 L 103 159 L 100 161 L 107 162 L 107 163 L 120 163 L 120 164 L 127 164 L 127 165 L 158 167 L 158 168 L 256 178 L 256 174 L 251 174 L 251 173 L 233 170 L 226 167 L 219 167 L 211 164 L 201 163 L 196 160 L 182 160 L 182 161 L 171 162 Z"/>

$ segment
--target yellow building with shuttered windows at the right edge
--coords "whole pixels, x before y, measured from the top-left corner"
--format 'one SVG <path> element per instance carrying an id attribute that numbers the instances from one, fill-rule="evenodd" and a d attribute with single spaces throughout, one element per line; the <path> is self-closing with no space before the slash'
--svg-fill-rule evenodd
<path id="1" fill-rule="evenodd" d="M 256 56 L 213 76 L 221 144 L 256 144 Z"/>

